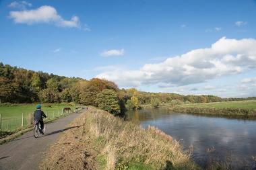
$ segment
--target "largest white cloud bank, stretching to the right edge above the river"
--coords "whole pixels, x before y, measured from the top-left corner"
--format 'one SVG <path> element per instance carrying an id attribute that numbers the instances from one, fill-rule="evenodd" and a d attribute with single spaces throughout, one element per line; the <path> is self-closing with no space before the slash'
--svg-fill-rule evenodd
<path id="1" fill-rule="evenodd" d="M 143 65 L 138 70 L 109 70 L 97 77 L 121 87 L 158 85 L 174 87 L 203 83 L 224 75 L 256 68 L 256 40 L 220 38 L 210 48 L 191 50 L 163 62 Z"/>

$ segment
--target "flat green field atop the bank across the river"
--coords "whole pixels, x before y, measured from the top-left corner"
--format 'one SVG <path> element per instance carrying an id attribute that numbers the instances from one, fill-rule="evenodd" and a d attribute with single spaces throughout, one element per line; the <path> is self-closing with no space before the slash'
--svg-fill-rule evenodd
<path id="1" fill-rule="evenodd" d="M 215 102 L 215 103 L 193 103 L 193 104 L 185 104 L 181 106 L 196 107 L 196 108 L 240 108 L 240 109 L 256 110 L 256 100 L 222 101 L 222 102 Z"/>

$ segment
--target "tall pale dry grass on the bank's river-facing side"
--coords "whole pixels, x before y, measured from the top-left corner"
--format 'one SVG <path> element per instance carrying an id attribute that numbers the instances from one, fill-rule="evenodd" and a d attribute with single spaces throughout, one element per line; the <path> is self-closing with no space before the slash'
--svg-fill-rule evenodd
<path id="1" fill-rule="evenodd" d="M 133 162 L 164 169 L 171 163 L 173 169 L 197 169 L 190 153 L 183 151 L 177 140 L 150 126 L 144 130 L 132 122 L 125 122 L 107 112 L 91 108 L 86 114 L 90 133 L 100 138 L 100 148 L 106 155 L 106 169 L 116 169 L 117 163 Z"/>

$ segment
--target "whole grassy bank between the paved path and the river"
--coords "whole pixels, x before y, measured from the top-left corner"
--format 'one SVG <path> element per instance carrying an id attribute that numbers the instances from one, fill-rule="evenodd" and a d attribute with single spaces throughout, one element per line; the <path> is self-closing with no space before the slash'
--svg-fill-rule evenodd
<path id="1" fill-rule="evenodd" d="M 41 169 L 198 169 L 179 142 L 157 128 L 90 108 L 51 146 Z"/>

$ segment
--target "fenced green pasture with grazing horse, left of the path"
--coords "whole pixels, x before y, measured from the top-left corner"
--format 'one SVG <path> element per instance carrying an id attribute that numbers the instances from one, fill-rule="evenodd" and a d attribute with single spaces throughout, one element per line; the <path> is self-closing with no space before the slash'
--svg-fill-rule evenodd
<path id="1" fill-rule="evenodd" d="M 51 107 L 49 107 L 51 105 Z M 56 103 L 56 104 L 42 104 L 42 111 L 47 115 L 47 119 L 57 118 L 61 116 L 62 109 L 68 107 L 72 110 L 75 106 L 71 106 L 68 103 Z M 22 113 L 24 113 L 24 126 L 28 125 L 30 117 L 36 110 L 36 103 L 34 104 L 1 104 L 0 114 L 1 114 L 1 130 L 15 130 L 20 128 L 22 125 Z"/>

